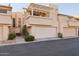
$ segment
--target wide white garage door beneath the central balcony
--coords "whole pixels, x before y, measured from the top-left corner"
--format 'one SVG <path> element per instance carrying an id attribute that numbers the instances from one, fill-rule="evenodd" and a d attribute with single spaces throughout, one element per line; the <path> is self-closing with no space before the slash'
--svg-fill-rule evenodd
<path id="1" fill-rule="evenodd" d="M 48 37 L 56 37 L 57 32 L 56 32 L 56 28 L 34 26 L 32 27 L 32 34 L 36 38 L 48 38 Z"/>

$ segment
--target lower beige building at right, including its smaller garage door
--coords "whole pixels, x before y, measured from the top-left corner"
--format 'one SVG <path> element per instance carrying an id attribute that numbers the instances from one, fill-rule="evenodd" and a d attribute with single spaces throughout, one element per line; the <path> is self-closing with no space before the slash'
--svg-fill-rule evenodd
<path id="1" fill-rule="evenodd" d="M 58 14 L 60 22 L 60 32 L 63 37 L 77 37 L 79 36 L 79 18 Z"/>

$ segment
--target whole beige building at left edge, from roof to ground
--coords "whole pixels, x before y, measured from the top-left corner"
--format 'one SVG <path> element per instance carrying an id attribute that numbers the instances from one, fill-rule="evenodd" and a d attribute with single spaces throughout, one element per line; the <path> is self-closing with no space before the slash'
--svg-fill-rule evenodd
<path id="1" fill-rule="evenodd" d="M 12 7 L 0 5 L 0 41 L 7 40 L 12 25 Z"/>

